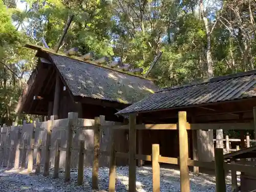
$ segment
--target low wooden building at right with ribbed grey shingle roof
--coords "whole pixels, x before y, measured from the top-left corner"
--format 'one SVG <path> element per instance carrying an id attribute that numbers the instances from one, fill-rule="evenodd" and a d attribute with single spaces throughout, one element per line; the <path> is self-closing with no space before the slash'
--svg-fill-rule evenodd
<path id="1" fill-rule="evenodd" d="M 253 70 L 210 78 L 201 83 L 165 88 L 116 114 L 136 113 L 141 122 L 161 124 L 177 123 L 178 112 L 186 111 L 187 121 L 198 123 L 201 128 L 198 131 L 188 130 L 189 157 L 197 159 L 199 156 L 199 160 L 211 161 L 214 160 L 214 143 L 210 123 L 220 123 L 220 129 L 225 130 L 232 129 L 225 127 L 225 123 L 253 123 L 253 111 L 256 115 L 256 108 L 253 108 L 255 103 L 256 70 Z M 244 129 L 245 127 L 241 127 L 241 130 Z M 138 146 L 140 154 L 150 155 L 152 144 L 158 143 L 160 155 L 179 156 L 177 130 L 141 132 L 143 142 L 142 146 Z"/>

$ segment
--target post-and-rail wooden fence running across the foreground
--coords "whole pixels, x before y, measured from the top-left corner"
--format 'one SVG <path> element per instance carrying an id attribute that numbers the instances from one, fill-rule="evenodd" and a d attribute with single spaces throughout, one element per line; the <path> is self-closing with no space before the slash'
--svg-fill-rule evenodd
<path id="1" fill-rule="evenodd" d="M 223 148 L 215 149 L 215 161 L 212 162 L 202 162 L 198 160 L 191 160 L 188 158 L 188 136 L 187 130 L 201 130 L 205 127 L 205 124 L 189 124 L 186 121 L 186 112 L 179 112 L 179 121 L 177 124 L 136 124 L 136 115 L 130 115 L 129 117 L 129 125 L 111 125 L 111 147 L 110 150 L 100 150 L 100 137 L 101 131 L 107 128 L 110 128 L 109 125 L 100 125 L 99 118 L 96 117 L 94 121 L 94 125 L 87 126 L 82 125 L 79 121 L 83 121 L 83 119 L 78 119 L 76 113 L 69 113 L 69 118 L 66 121 L 66 126 L 58 126 L 60 130 L 67 131 L 67 146 L 60 147 L 60 140 L 57 140 L 55 146 L 51 146 L 51 136 L 52 136 L 52 127 L 56 120 L 49 120 L 47 122 L 46 129 L 46 142 L 42 145 L 41 142 L 35 144 L 35 131 L 37 129 L 41 129 L 41 127 L 37 127 L 37 123 L 34 123 L 34 127 L 30 137 L 30 143 L 28 144 L 28 140 L 23 140 L 22 145 L 17 144 L 16 147 L 13 147 L 13 143 L 9 145 L 9 143 L 5 143 L 8 141 L 8 137 L 10 134 L 7 129 L 6 132 L 1 133 L 1 137 L 6 137 L 3 142 L 1 142 L 1 153 L 4 154 L 9 153 L 9 158 L 7 162 L 11 161 L 11 154 L 15 152 L 14 155 L 14 167 L 18 168 L 21 165 L 22 168 L 25 168 L 26 158 L 27 158 L 27 150 L 28 150 L 28 170 L 31 171 L 33 168 L 33 150 L 36 149 L 36 173 L 40 173 L 40 164 L 41 164 L 41 154 L 46 157 L 44 162 L 44 176 L 49 175 L 49 167 L 50 167 L 50 150 L 55 151 L 55 159 L 54 159 L 54 174 L 53 177 L 57 178 L 59 173 L 59 160 L 60 160 L 60 151 L 66 151 L 66 162 L 65 162 L 65 181 L 70 180 L 70 171 L 71 171 L 71 152 L 76 150 L 79 152 L 78 155 L 78 177 L 77 184 L 81 185 L 83 183 L 83 161 L 84 154 L 88 151 L 84 148 L 84 141 L 79 141 L 79 147 L 72 146 L 72 140 L 74 132 L 78 130 L 93 130 L 94 131 L 94 146 L 93 150 L 93 169 L 92 169 L 92 188 L 98 189 L 98 170 L 99 170 L 99 155 L 109 156 L 110 157 L 110 171 L 109 171 L 109 191 L 115 191 L 115 180 L 116 180 L 116 158 L 126 158 L 129 159 L 129 192 L 136 191 L 136 161 L 144 160 L 144 161 L 152 161 L 153 168 L 153 191 L 160 192 L 160 166 L 159 163 L 169 163 L 169 164 L 179 164 L 180 165 L 180 187 L 181 192 L 189 192 L 189 170 L 188 166 L 197 166 L 197 167 L 206 167 L 212 168 L 216 171 L 216 191 L 217 192 L 225 192 L 225 173 L 224 170 L 232 170 L 232 172 L 244 172 L 255 174 L 256 167 L 255 166 L 247 166 L 242 164 L 231 164 L 229 162 L 224 162 L 223 158 Z M 210 124 L 207 125 L 208 129 L 254 129 L 251 123 L 226 123 L 226 124 Z M 210 127 L 210 128 L 209 128 Z M 228 128 L 227 128 L 228 127 Z M 114 131 L 113 130 L 129 130 L 129 153 L 121 153 L 116 151 L 116 141 L 114 139 Z M 17 138 L 20 143 L 20 135 L 22 133 L 22 127 L 17 127 Z M 142 155 L 136 153 L 136 130 L 177 130 L 179 133 L 179 158 L 170 158 L 170 157 L 162 157 L 159 154 L 159 144 L 152 145 L 152 155 Z M 3 129 L 2 129 L 3 131 Z M 44 152 L 42 151 L 44 148 Z M 21 151 L 22 150 L 22 151 Z M 22 152 L 22 153 L 21 153 Z M 22 154 L 22 161 L 20 162 L 20 154 Z M 1 158 L 2 159 L 2 158 Z M 2 159 L 6 161 L 6 159 Z M 6 162 L 0 162 L 0 164 L 6 166 Z"/>

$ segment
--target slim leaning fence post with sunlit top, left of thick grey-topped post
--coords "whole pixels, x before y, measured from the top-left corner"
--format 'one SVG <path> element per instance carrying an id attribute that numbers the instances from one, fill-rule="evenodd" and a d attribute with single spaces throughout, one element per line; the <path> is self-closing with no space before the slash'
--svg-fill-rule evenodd
<path id="1" fill-rule="evenodd" d="M 46 133 L 46 148 L 45 148 L 45 170 L 44 176 L 49 175 L 49 168 L 50 168 L 50 146 L 51 146 L 51 136 L 52 136 L 52 123 L 54 120 L 54 116 L 51 116 L 51 120 L 47 122 L 47 133 Z"/>

